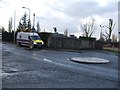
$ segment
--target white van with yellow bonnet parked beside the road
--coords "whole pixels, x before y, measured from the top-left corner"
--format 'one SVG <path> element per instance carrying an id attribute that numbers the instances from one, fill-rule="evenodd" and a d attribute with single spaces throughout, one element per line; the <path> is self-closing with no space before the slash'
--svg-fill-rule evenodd
<path id="1" fill-rule="evenodd" d="M 29 46 L 29 48 L 34 46 L 42 47 L 44 45 L 40 36 L 33 32 L 18 32 L 16 42 L 20 46 Z"/>

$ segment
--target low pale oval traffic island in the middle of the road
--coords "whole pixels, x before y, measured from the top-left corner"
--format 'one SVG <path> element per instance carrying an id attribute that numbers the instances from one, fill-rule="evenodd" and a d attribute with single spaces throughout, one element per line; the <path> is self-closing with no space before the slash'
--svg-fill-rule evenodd
<path id="1" fill-rule="evenodd" d="M 109 63 L 109 60 L 96 58 L 96 57 L 73 57 L 69 60 L 79 63 L 90 63 L 90 64 L 106 64 Z"/>

